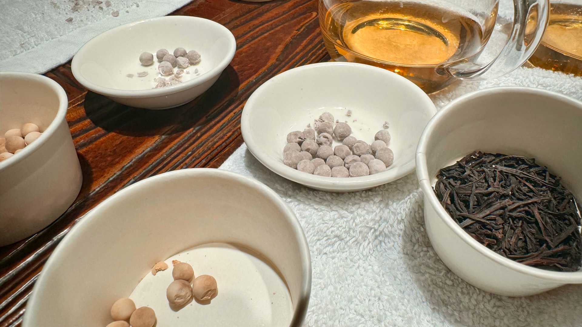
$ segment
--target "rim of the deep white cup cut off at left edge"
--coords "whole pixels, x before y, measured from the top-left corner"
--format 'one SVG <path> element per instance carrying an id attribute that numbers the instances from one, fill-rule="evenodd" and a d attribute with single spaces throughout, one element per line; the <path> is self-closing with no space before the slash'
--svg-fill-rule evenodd
<path id="1" fill-rule="evenodd" d="M 28 157 L 34 151 L 37 151 L 37 149 L 42 147 L 43 144 L 47 143 L 48 139 L 53 134 L 55 134 L 55 131 L 56 129 L 59 128 L 59 125 L 61 125 L 62 122 L 66 122 L 65 116 L 67 114 L 67 110 L 69 107 L 69 99 L 67 97 L 67 94 L 65 93 L 65 89 L 63 89 L 63 87 L 60 86 L 59 83 L 56 83 L 56 81 L 49 79 L 47 76 L 24 72 L 0 72 L 0 80 L 10 79 L 13 77 L 17 78 L 20 77 L 47 85 L 56 94 L 56 97 L 58 98 L 59 101 L 59 109 L 58 111 L 56 111 L 55 118 L 52 119 L 51 123 L 41 133 L 37 140 L 34 141 L 34 143 L 24 147 L 22 149 L 22 152 L 19 152 L 19 155 L 14 155 L 13 157 L 10 157 L 9 160 L 0 161 L 0 170 L 7 169 L 10 166 L 16 165 L 18 162 L 26 159 L 26 157 Z"/>

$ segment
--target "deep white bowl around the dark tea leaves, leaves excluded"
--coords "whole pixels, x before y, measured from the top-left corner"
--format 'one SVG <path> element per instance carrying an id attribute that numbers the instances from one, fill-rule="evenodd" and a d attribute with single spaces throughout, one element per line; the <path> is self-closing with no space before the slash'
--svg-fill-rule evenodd
<path id="1" fill-rule="evenodd" d="M 416 154 L 424 221 L 432 247 L 457 275 L 487 292 L 527 296 L 567 283 L 582 272 L 519 264 L 482 246 L 453 221 L 432 190 L 438 170 L 475 150 L 535 158 L 582 198 L 582 102 L 524 87 L 464 95 L 441 109 L 423 132 Z"/>

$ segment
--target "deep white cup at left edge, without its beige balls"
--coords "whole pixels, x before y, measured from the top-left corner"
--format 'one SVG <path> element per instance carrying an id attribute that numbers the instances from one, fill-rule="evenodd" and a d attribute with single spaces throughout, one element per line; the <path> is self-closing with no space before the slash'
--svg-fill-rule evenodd
<path id="1" fill-rule="evenodd" d="M 0 246 L 45 228 L 73 203 L 83 176 L 65 119 L 65 90 L 48 77 L 0 72 L 0 135 L 36 123 L 34 143 L 0 162 Z"/>

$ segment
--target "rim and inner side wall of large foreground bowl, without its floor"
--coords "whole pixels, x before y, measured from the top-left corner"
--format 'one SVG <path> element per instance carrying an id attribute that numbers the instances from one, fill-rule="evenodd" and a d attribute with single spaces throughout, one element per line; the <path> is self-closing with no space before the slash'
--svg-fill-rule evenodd
<path id="1" fill-rule="evenodd" d="M 290 326 L 301 325 L 311 290 L 311 260 L 293 211 L 249 177 L 183 169 L 133 184 L 88 212 L 42 269 L 23 326 L 103 327 L 111 321 L 113 302 L 129 296 L 155 262 L 212 242 L 240 244 L 270 260 L 289 287 Z M 220 292 L 219 284 L 218 297 Z M 233 301 L 223 314 L 240 310 L 237 305 Z"/>

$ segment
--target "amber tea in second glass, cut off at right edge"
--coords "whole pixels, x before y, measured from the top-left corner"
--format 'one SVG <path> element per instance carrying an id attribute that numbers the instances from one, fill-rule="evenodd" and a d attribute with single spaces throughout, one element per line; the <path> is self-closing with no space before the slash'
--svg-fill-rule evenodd
<path id="1" fill-rule="evenodd" d="M 582 6 L 551 5 L 548 28 L 529 62 L 582 76 Z"/>

